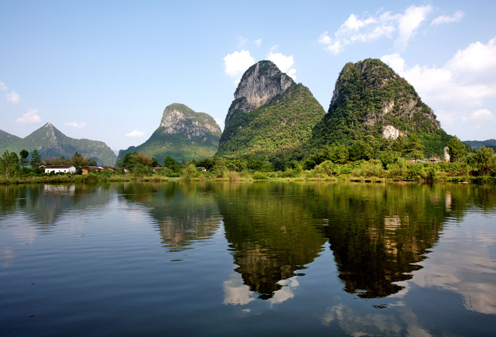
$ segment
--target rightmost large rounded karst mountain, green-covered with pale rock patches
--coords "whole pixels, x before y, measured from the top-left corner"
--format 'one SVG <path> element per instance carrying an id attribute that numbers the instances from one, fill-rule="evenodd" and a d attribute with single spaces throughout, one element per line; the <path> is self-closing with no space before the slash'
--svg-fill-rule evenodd
<path id="1" fill-rule="evenodd" d="M 366 135 L 408 134 L 419 136 L 426 154 L 442 154 L 451 138 L 413 86 L 381 60 L 368 58 L 343 67 L 329 110 L 315 126 L 310 144 L 350 144 Z"/>

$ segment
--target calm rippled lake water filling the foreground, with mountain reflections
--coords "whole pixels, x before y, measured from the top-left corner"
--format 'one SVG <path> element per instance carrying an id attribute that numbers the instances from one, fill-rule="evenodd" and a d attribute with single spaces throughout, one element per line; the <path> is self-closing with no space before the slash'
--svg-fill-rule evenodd
<path id="1" fill-rule="evenodd" d="M 495 186 L 0 186 L 2 337 L 495 334 Z"/>

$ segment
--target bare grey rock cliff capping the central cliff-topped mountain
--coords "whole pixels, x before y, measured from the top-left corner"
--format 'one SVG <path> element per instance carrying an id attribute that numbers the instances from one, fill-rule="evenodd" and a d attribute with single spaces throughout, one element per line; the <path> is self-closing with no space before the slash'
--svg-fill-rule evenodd
<path id="1" fill-rule="evenodd" d="M 246 98 L 249 110 L 254 110 L 295 82 L 271 61 L 258 61 L 248 68 L 234 93 L 234 98 Z"/>

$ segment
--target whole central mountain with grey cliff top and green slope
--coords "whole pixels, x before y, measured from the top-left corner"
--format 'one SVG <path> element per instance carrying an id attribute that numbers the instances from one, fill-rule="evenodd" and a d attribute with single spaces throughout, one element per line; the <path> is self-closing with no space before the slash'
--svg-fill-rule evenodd
<path id="1" fill-rule="evenodd" d="M 227 113 L 218 155 L 273 157 L 306 143 L 325 114 L 303 84 L 271 61 L 259 61 L 243 75 Z"/>

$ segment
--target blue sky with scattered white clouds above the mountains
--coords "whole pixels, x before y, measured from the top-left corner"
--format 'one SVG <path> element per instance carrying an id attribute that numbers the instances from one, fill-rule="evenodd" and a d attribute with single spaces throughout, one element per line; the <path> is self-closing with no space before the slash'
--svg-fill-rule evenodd
<path id="1" fill-rule="evenodd" d="M 461 140 L 496 138 L 496 1 L 3 1 L 0 129 L 51 122 L 113 150 L 182 103 L 224 126 L 270 59 L 327 111 L 347 62 L 380 58 Z"/>

